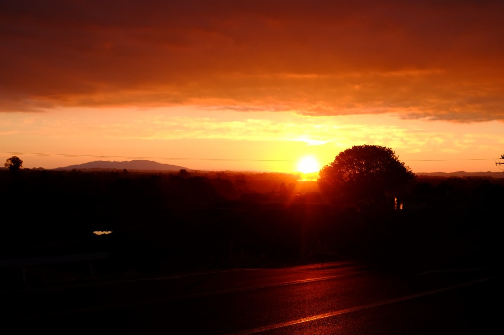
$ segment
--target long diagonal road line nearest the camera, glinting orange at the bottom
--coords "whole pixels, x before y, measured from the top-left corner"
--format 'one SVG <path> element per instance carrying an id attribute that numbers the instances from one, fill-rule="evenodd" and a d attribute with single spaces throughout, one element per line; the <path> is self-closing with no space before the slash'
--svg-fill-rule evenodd
<path id="1" fill-rule="evenodd" d="M 267 330 L 271 330 L 271 329 L 287 327 L 287 326 L 290 326 L 290 325 L 293 325 L 293 324 L 298 324 L 298 323 L 303 323 L 303 322 L 309 322 L 309 321 L 314 321 L 314 320 L 320 320 L 320 319 L 327 318 L 327 317 L 332 317 L 332 316 L 336 316 L 336 315 L 352 313 L 352 312 L 356 312 L 356 311 L 363 310 L 363 309 L 368 309 L 368 308 L 373 308 L 373 307 L 388 305 L 388 304 L 392 304 L 392 303 L 395 303 L 395 302 L 400 302 L 400 301 L 404 301 L 404 300 L 409 300 L 409 299 L 414 299 L 414 298 L 418 298 L 418 297 L 423 297 L 423 296 L 426 296 L 426 295 L 430 295 L 430 294 L 434 294 L 434 293 L 439 293 L 439 292 L 443 292 L 443 291 L 453 290 L 453 289 L 469 286 L 469 285 L 472 285 L 472 284 L 484 282 L 484 281 L 487 281 L 487 280 L 490 280 L 490 279 L 494 279 L 494 277 L 484 278 L 484 279 L 479 279 L 479 280 L 474 280 L 474 281 L 468 282 L 468 283 L 463 283 L 463 284 L 459 284 L 459 285 L 454 285 L 454 286 L 440 288 L 440 289 L 426 291 L 426 292 L 420 292 L 420 293 L 411 294 L 411 295 L 407 295 L 407 296 L 403 296 L 403 297 L 399 297 L 399 298 L 395 298 L 395 299 L 389 299 L 389 300 L 374 302 L 372 304 L 367 304 L 367 305 L 362 305 L 362 306 L 356 306 L 356 307 L 346 308 L 346 309 L 340 309 L 340 310 L 332 311 L 332 312 L 329 312 L 329 313 L 324 313 L 324 314 L 319 314 L 319 315 L 313 315 L 313 316 L 303 317 L 303 318 L 297 319 L 297 320 L 291 320 L 291 321 L 286 321 L 286 322 L 274 323 L 274 324 L 266 325 L 266 326 L 263 326 L 263 327 L 257 327 L 257 328 L 254 328 L 254 329 L 247 329 L 247 330 L 237 331 L 237 332 L 230 333 L 228 335 L 254 334 L 254 333 L 258 333 L 258 332 L 262 332 L 262 331 L 267 331 Z"/>

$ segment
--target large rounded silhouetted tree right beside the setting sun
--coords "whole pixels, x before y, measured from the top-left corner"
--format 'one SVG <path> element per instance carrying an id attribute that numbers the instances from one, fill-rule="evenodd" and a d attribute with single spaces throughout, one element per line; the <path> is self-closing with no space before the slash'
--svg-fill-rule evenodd
<path id="1" fill-rule="evenodd" d="M 335 202 L 380 206 L 392 201 L 414 177 L 391 148 L 359 145 L 340 152 L 324 166 L 318 185 Z"/>

